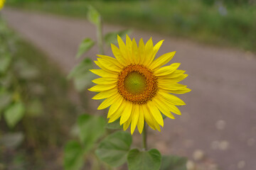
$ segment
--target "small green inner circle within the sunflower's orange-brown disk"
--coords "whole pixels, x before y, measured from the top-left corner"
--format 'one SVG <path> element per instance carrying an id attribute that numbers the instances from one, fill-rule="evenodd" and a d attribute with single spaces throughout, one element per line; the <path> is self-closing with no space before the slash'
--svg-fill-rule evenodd
<path id="1" fill-rule="evenodd" d="M 124 87 L 131 94 L 141 94 L 146 89 L 146 79 L 139 72 L 130 72 L 124 79 Z"/>

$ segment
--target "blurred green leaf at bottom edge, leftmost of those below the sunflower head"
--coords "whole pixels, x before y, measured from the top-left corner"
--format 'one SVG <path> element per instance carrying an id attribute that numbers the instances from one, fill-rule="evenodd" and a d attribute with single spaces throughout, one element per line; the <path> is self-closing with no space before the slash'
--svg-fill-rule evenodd
<path id="1" fill-rule="evenodd" d="M 65 170 L 78 170 L 84 162 L 84 151 L 77 141 L 70 141 L 64 149 Z"/>

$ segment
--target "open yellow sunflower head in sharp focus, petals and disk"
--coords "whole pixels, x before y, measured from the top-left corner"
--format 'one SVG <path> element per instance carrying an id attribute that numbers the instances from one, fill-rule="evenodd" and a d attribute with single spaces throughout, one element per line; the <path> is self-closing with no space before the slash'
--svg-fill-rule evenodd
<path id="1" fill-rule="evenodd" d="M 176 106 L 186 105 L 173 94 L 185 94 L 190 89 L 178 81 L 185 79 L 188 74 L 179 70 L 180 63 L 167 64 L 175 52 L 169 52 L 155 59 L 164 40 L 153 45 L 150 38 L 146 45 L 139 40 L 139 46 L 127 35 L 126 44 L 117 35 L 119 48 L 111 45 L 114 57 L 97 55 L 97 64 L 100 69 L 91 69 L 90 72 L 101 78 L 92 82 L 97 84 L 88 89 L 100 92 L 92 99 L 105 99 L 98 110 L 110 109 L 107 118 L 109 123 L 119 119 L 124 130 L 131 125 L 133 134 L 136 126 L 140 133 L 146 122 L 150 128 L 159 130 L 164 126 L 163 115 L 174 119 L 175 113 L 181 115 Z M 164 67 L 162 67 L 164 66 Z"/>

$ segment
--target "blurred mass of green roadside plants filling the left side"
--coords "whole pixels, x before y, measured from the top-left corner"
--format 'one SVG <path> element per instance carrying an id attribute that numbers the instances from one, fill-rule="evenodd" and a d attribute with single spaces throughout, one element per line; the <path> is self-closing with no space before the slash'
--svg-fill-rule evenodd
<path id="1" fill-rule="evenodd" d="M 60 169 L 77 117 L 70 86 L 43 52 L 0 23 L 0 169 Z"/>

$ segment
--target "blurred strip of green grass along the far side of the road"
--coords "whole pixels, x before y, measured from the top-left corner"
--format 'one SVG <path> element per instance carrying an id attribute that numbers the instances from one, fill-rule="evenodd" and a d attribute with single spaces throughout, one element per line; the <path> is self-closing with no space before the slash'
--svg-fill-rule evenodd
<path id="1" fill-rule="evenodd" d="M 31 11 L 85 18 L 87 1 L 43 1 L 11 4 Z M 199 0 L 170 1 L 90 1 L 104 21 L 154 30 L 157 33 L 189 38 L 220 46 L 256 51 L 256 6 L 227 6 L 220 15 L 217 4 Z"/>

